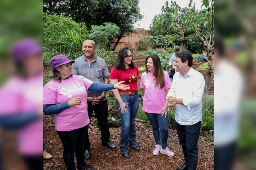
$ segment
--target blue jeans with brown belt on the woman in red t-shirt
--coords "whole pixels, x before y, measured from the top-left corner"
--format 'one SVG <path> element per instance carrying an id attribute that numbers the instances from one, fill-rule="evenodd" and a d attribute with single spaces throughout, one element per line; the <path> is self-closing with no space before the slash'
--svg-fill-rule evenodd
<path id="1" fill-rule="evenodd" d="M 123 102 L 127 104 L 126 113 L 121 114 L 119 110 L 119 116 L 122 122 L 121 135 L 120 135 L 120 150 L 121 154 L 128 153 L 127 141 L 130 147 L 136 147 L 136 129 L 135 129 L 135 118 L 139 108 L 139 93 L 135 95 L 122 95 L 120 94 Z M 116 100 L 117 109 L 119 109 L 119 103 Z"/>

